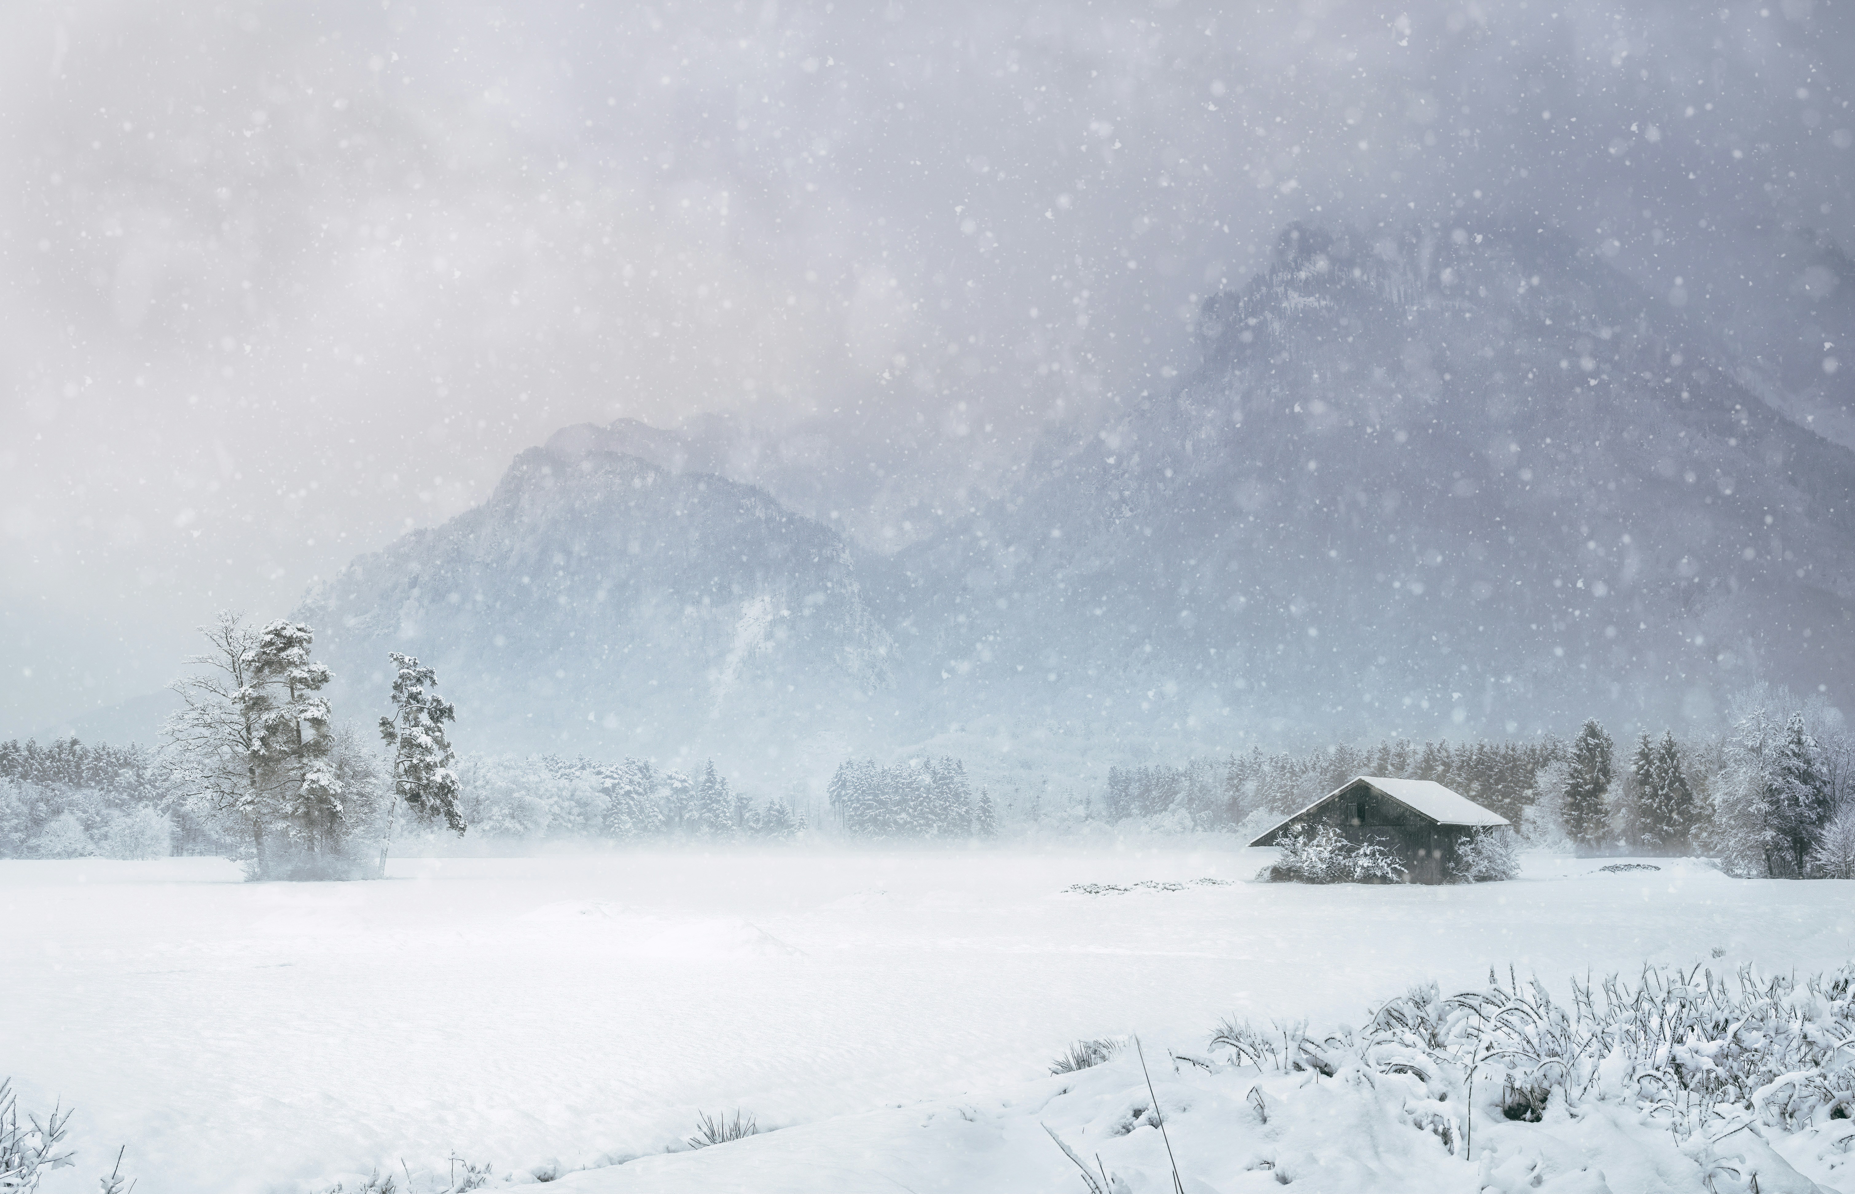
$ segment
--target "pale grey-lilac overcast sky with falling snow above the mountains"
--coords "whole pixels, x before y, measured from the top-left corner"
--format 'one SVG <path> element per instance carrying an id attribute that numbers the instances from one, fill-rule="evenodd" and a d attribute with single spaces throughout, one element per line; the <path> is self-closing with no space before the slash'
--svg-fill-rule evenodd
<path id="1" fill-rule="evenodd" d="M 1849 245 L 1846 7 L 22 0 L 0 732 L 568 423 L 863 404 L 1009 456 L 1189 367 L 1291 219 L 1538 221 L 1657 293 Z"/>

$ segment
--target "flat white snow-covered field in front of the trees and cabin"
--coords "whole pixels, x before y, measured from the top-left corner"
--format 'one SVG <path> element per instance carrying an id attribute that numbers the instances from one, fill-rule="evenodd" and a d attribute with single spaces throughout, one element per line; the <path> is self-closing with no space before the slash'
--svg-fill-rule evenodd
<path id="1" fill-rule="evenodd" d="M 1228 1014 L 1358 1023 L 1414 981 L 1467 986 L 1490 964 L 1556 983 L 1712 947 L 1799 972 L 1855 957 L 1849 883 L 1569 858 L 1477 888 L 1241 883 L 1261 860 L 657 853 L 401 860 L 354 884 L 245 884 L 219 860 L 0 862 L 0 1073 L 26 1105 L 78 1107 L 85 1164 L 48 1194 L 93 1190 L 122 1142 L 141 1194 L 443 1172 L 451 1150 L 573 1170 L 660 1153 L 697 1111 L 735 1107 L 790 1131 L 562 1188 L 1080 1190 L 1024 1109 L 1072 1086 L 1037 1114 L 1080 1129 L 1126 1112 L 1139 1075 L 1120 1059 L 1043 1077 L 1074 1038 L 1204 1053 Z M 1208 877 L 1237 883 L 1189 883 Z M 1065 892 L 1089 883 L 1132 890 Z M 1226 1075 L 1163 1066 L 1161 1083 L 1200 1083 L 1189 1098 L 1241 1103 Z M 1213 1122 L 1174 1138 L 1222 1150 L 1195 1190 L 1274 1181 L 1232 1168 L 1230 1140 L 1202 1137 Z M 1145 1153 L 1115 1166 L 1159 1172 Z"/>

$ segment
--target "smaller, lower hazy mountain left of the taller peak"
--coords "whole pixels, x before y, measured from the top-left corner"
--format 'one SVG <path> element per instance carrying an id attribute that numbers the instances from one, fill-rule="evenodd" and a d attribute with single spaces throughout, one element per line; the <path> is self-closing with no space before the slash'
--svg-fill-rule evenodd
<path id="1" fill-rule="evenodd" d="M 837 534 L 759 489 L 597 451 L 523 452 L 484 506 L 354 560 L 299 616 L 338 712 L 371 716 L 404 651 L 479 747 L 790 756 L 889 684 L 889 634 Z"/>

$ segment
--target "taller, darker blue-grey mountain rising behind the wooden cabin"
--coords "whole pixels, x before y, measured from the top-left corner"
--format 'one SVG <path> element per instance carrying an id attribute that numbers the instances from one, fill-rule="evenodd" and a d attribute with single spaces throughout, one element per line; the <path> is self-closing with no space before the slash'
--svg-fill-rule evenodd
<path id="1" fill-rule="evenodd" d="M 1553 237 L 1289 230 L 1195 376 L 905 554 L 913 675 L 1091 740 L 1846 697 L 1855 454 L 1664 311 Z"/>

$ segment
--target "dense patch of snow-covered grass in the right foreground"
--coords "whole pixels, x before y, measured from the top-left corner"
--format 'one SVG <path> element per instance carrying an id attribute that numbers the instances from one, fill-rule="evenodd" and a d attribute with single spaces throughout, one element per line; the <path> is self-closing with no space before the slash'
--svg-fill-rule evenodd
<path id="1" fill-rule="evenodd" d="M 1493 1107 L 1506 1120 L 1540 1122 L 1549 1107 L 1577 1112 L 1592 1101 L 1623 1103 L 1645 1124 L 1718 1140 L 1751 1125 L 1801 1131 L 1855 1112 L 1855 964 L 1797 981 L 1647 966 L 1634 983 L 1610 975 L 1571 984 L 1554 999 L 1538 979 L 1449 997 L 1415 986 L 1373 1012 L 1354 1035 L 1304 1029 L 1263 1033 L 1226 1022 L 1211 1048 L 1234 1064 L 1332 1077 L 1352 1068 L 1415 1073 L 1460 1086 L 1467 1114 L 1477 1079 L 1499 1083 Z M 1441 1096 L 1439 1101 L 1447 1101 Z M 1464 1122 L 1464 1135 L 1473 1120 Z"/>

